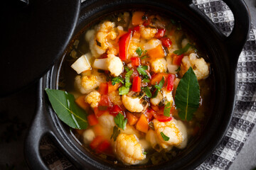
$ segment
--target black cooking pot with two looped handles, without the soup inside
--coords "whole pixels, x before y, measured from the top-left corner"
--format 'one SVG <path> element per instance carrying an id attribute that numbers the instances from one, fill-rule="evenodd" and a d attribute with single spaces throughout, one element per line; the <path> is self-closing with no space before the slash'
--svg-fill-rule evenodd
<path id="1" fill-rule="evenodd" d="M 48 169 L 39 153 L 39 142 L 44 135 L 52 138 L 66 157 L 78 169 L 194 169 L 210 156 L 222 140 L 233 115 L 236 92 L 236 68 L 238 57 L 250 30 L 250 16 L 242 0 L 225 0 L 235 17 L 232 33 L 226 37 L 210 19 L 202 13 L 192 0 L 144 1 L 87 0 L 82 3 L 80 18 L 75 30 L 82 28 L 101 16 L 113 11 L 127 9 L 151 9 L 165 15 L 176 16 L 197 36 L 204 45 L 214 82 L 214 102 L 212 113 L 201 137 L 188 145 L 175 159 L 157 166 L 122 166 L 103 162 L 82 148 L 72 137 L 69 128 L 62 123 L 50 106 L 44 89 L 58 89 L 58 75 L 64 57 L 41 78 L 38 88 L 38 110 L 26 140 L 25 154 L 31 169 Z"/>

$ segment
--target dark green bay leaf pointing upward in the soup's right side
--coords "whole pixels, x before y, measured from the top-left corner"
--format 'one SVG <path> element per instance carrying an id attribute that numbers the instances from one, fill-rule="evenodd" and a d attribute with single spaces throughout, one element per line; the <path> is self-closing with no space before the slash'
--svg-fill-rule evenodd
<path id="1" fill-rule="evenodd" d="M 179 117 L 182 120 L 191 120 L 193 113 L 199 107 L 199 101 L 200 89 L 198 79 L 193 69 L 189 67 L 176 89 L 175 104 Z"/>

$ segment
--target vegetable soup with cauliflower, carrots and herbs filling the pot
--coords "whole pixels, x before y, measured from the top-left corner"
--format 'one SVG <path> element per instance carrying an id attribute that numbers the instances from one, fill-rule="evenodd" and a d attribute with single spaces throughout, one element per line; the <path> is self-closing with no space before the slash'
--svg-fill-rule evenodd
<path id="1" fill-rule="evenodd" d="M 213 79 L 179 21 L 116 13 L 80 33 L 67 54 L 59 86 L 88 114 L 88 128 L 73 133 L 90 152 L 114 164 L 159 164 L 201 133 Z"/>

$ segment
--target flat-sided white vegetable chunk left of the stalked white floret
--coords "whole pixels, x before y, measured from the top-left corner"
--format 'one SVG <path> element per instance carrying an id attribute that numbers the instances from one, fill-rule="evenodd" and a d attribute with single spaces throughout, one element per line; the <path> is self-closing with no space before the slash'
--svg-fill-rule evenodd
<path id="1" fill-rule="evenodd" d="M 82 55 L 81 57 L 78 58 L 78 60 L 76 60 L 71 67 L 73 69 L 75 69 L 75 72 L 77 72 L 78 74 L 80 74 L 81 72 L 84 72 L 88 69 L 92 69 L 90 62 L 87 60 L 87 56 L 86 55 Z"/>

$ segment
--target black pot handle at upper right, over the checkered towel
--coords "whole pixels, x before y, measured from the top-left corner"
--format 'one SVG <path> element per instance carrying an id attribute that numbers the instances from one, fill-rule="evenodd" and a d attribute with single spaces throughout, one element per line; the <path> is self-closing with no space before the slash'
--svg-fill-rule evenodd
<path id="1" fill-rule="evenodd" d="M 191 0 L 184 0 L 188 3 L 188 1 Z M 195 6 L 192 1 L 191 4 L 188 4 L 190 8 L 193 9 L 193 11 L 196 11 L 203 20 L 206 20 L 207 23 L 212 23 L 211 27 L 213 28 L 213 31 L 215 32 L 215 35 L 218 37 L 218 39 L 223 42 L 223 45 L 225 48 L 228 49 L 228 56 L 229 56 L 229 62 L 230 66 L 234 66 L 236 68 L 238 57 L 240 55 L 240 52 L 242 51 L 242 48 L 245 45 L 245 42 L 247 40 L 247 35 L 250 31 L 250 13 L 249 9 L 247 8 L 247 5 L 245 4 L 245 1 L 243 0 L 223 0 L 230 10 L 233 12 L 233 16 L 235 18 L 235 25 L 233 27 L 232 33 L 228 37 L 223 35 L 223 33 L 219 30 L 219 28 L 213 23 L 213 21 L 206 16 L 203 11 L 201 11 L 197 6 Z"/>

